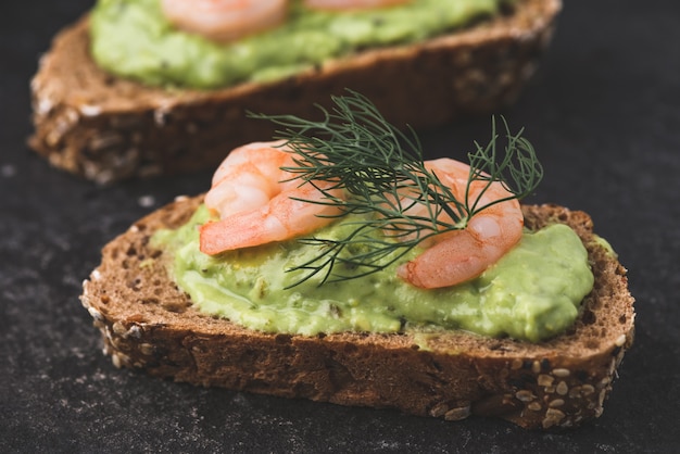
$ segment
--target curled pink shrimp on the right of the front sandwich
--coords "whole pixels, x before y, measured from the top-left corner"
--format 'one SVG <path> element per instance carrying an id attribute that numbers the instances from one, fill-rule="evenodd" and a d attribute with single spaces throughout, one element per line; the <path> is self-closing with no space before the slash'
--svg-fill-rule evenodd
<path id="1" fill-rule="evenodd" d="M 450 159 L 426 163 L 439 179 L 451 187 L 458 200 L 465 200 L 469 166 Z M 474 181 L 469 203 L 480 197 L 486 181 Z M 498 182 L 481 194 L 479 206 L 512 194 Z M 432 237 L 427 249 L 398 268 L 398 276 L 426 289 L 455 286 L 479 276 L 499 261 L 521 238 L 524 216 L 516 199 L 491 205 L 474 215 L 462 230 Z"/>

